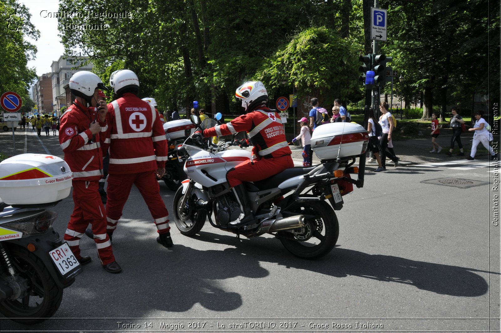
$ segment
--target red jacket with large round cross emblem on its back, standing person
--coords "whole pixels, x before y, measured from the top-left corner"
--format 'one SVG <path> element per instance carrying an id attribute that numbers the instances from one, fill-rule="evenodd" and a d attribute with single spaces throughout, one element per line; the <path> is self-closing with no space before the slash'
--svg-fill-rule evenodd
<path id="1" fill-rule="evenodd" d="M 108 104 L 106 145 L 110 174 L 136 174 L 165 167 L 167 140 L 155 108 L 132 93 Z"/>

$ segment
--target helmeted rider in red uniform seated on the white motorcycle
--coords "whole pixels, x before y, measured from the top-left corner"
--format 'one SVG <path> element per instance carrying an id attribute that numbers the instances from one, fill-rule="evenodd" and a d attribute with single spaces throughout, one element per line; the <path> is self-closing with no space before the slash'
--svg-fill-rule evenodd
<path id="1" fill-rule="evenodd" d="M 249 140 L 254 145 L 253 160 L 242 162 L 226 173 L 226 180 L 233 188 L 244 215 L 229 223 L 233 227 L 238 227 L 256 221 L 242 182 L 261 181 L 293 168 L 294 162 L 280 115 L 267 107 L 268 91 L 265 85 L 261 81 L 245 82 L 236 89 L 235 96 L 242 100 L 242 107 L 247 113 L 229 123 L 205 129 L 203 136 L 221 136 L 247 131 Z"/>

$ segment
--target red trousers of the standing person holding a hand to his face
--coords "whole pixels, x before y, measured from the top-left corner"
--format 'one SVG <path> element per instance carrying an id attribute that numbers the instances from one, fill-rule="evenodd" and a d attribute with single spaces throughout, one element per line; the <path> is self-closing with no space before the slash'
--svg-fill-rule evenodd
<path id="1" fill-rule="evenodd" d="M 80 259 L 80 238 L 92 224 L 92 233 L 101 263 L 107 265 L 115 261 L 110 238 L 106 233 L 106 211 L 98 192 L 98 181 L 73 180 L 73 202 L 75 207 L 64 235 L 75 256 Z"/>

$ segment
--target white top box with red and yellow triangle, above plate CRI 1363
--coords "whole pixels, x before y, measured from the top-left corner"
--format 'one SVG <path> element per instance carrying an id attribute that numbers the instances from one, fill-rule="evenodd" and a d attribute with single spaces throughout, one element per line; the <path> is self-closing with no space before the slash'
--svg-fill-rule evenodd
<path id="1" fill-rule="evenodd" d="M 73 173 L 62 158 L 20 154 L 0 162 L 0 198 L 9 205 L 48 204 L 70 194 Z"/>

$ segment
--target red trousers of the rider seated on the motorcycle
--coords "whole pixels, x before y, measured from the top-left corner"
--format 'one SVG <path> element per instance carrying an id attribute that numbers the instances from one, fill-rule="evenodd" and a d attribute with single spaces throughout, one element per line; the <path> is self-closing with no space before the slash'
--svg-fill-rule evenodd
<path id="1" fill-rule="evenodd" d="M 289 168 L 294 168 L 291 155 L 255 159 L 238 164 L 234 170 L 228 171 L 226 179 L 229 186 L 234 187 L 242 182 L 257 182 L 267 179 Z"/>

